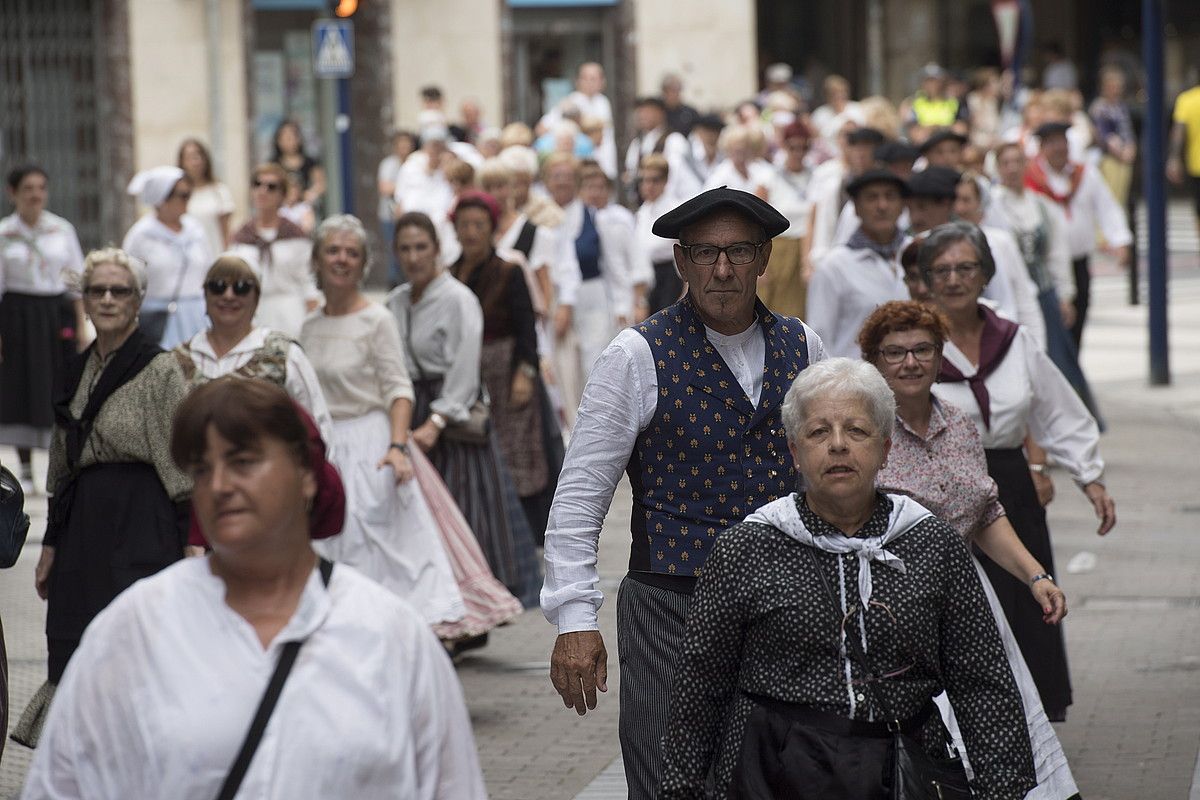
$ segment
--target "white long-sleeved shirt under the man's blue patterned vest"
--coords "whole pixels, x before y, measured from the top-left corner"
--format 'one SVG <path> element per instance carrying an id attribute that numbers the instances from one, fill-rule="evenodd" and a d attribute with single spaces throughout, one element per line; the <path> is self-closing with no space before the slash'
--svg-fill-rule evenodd
<path id="1" fill-rule="evenodd" d="M 738 385 L 757 405 L 766 363 L 760 325 L 755 323 L 733 336 L 704 330 Z M 809 362 L 824 359 L 821 337 L 808 325 L 804 332 Z M 541 610 L 559 633 L 599 628 L 596 614 L 604 602 L 596 570 L 600 528 L 637 437 L 654 420 L 658 402 L 650 345 L 636 330 L 625 329 L 588 377 L 550 510 Z"/>

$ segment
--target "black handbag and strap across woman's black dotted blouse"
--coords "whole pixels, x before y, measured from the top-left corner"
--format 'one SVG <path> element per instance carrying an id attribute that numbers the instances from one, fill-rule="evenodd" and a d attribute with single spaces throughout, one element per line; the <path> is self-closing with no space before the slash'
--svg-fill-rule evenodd
<path id="1" fill-rule="evenodd" d="M 833 589 L 826 581 L 824 572 L 821 571 L 821 565 L 817 564 L 816 554 L 812 553 L 811 548 L 809 548 L 809 557 L 812 559 L 814 570 L 821 579 L 821 585 L 824 587 L 829 602 L 833 603 L 834 610 L 841 614 L 841 607 L 838 606 Z M 858 640 L 857 636 L 846 636 L 845 638 L 850 645 L 851 657 L 866 673 L 868 691 L 883 710 L 888 718 L 888 729 L 892 730 L 892 800 L 959 800 L 973 796 L 962 759 L 958 754 L 935 758 L 902 730 L 902 722 L 880 687 L 880 675 L 863 650 L 863 643 Z"/>

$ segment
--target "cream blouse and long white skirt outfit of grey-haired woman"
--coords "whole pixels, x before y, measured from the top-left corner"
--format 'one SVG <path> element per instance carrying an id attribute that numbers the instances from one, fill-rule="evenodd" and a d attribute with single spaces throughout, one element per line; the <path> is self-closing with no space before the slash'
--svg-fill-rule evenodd
<path id="1" fill-rule="evenodd" d="M 313 547 L 391 589 L 430 625 L 462 619 L 462 594 L 420 486 L 397 485 L 390 468 L 379 468 L 391 441 L 388 411 L 413 399 L 395 318 L 376 303 L 338 317 L 317 311 L 300 343 L 334 417 L 330 461 L 346 487 L 346 527 Z"/>

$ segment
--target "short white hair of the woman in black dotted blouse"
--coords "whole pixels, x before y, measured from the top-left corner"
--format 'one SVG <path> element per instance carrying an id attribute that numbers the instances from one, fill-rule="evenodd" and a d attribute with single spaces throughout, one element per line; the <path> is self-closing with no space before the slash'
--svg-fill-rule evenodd
<path id="1" fill-rule="evenodd" d="M 821 398 L 853 398 L 866 404 L 871 422 L 890 438 L 895 428 L 896 399 L 880 371 L 858 359 L 827 359 L 809 365 L 784 398 L 784 431 L 796 441 L 809 416 L 809 404 Z"/>

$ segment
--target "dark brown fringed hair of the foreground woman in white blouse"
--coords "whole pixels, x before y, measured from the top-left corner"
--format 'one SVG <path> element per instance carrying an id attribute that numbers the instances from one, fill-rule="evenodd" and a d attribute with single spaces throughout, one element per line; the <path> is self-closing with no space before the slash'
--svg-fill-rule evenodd
<path id="1" fill-rule="evenodd" d="M 185 397 L 170 432 L 170 457 L 180 469 L 186 471 L 204 458 L 209 426 L 238 447 L 250 447 L 263 437 L 277 439 L 298 464 L 312 468 L 308 429 L 288 393 L 272 383 L 224 375 Z"/>

